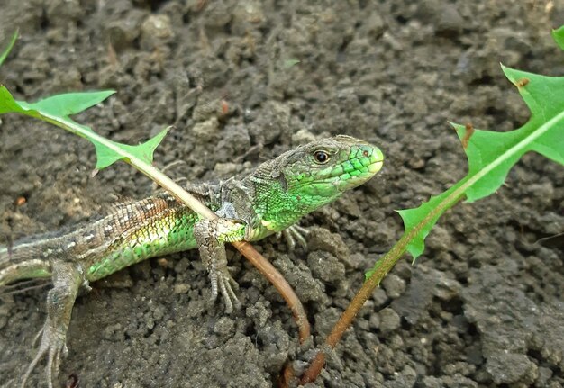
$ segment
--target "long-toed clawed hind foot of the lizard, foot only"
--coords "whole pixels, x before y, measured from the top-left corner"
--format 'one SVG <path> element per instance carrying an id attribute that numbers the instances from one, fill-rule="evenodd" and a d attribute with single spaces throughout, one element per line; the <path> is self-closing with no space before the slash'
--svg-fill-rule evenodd
<path id="1" fill-rule="evenodd" d="M 53 376 L 59 376 L 59 361 L 60 356 L 67 356 L 68 349 L 66 344 L 66 333 L 60 332 L 50 324 L 50 319 L 48 318 L 43 326 L 43 329 L 35 337 L 34 343 L 37 338 L 41 336 L 41 344 L 37 351 L 37 355 L 33 358 L 32 363 L 28 366 L 25 374 L 23 374 L 23 380 L 21 388 L 25 387 L 28 377 L 32 374 L 33 369 L 39 363 L 41 358 L 47 355 L 47 383 L 49 388 L 53 388 Z"/>

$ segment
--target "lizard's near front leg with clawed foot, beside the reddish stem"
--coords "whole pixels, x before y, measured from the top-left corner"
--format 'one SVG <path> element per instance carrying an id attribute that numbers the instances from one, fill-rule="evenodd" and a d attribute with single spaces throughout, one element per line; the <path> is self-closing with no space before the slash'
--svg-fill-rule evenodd
<path id="1" fill-rule="evenodd" d="M 245 238 L 245 225 L 219 218 L 201 220 L 194 226 L 194 236 L 200 250 L 200 258 L 204 262 L 212 282 L 212 301 L 217 298 L 218 291 L 225 299 L 225 312 L 231 313 L 233 306 L 241 308 L 241 302 L 233 291 L 239 285 L 233 280 L 227 268 L 225 242 L 241 241 Z"/>

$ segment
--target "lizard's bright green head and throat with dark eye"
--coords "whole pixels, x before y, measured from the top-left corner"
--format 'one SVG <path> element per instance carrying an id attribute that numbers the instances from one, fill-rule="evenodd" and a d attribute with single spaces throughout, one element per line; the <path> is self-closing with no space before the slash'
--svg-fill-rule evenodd
<path id="1" fill-rule="evenodd" d="M 366 141 L 335 136 L 289 150 L 259 167 L 253 207 L 268 230 L 283 230 L 299 218 L 367 182 L 384 154 Z"/>

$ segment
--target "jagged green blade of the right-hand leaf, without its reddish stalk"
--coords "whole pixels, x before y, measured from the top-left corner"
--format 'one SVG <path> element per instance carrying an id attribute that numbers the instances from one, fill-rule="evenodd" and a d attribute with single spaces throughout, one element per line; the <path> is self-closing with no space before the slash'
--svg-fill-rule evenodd
<path id="1" fill-rule="evenodd" d="M 535 151 L 564 165 L 564 77 L 502 68 L 531 109 L 531 118 L 523 127 L 509 132 L 452 124 L 468 158 L 468 175 L 429 202 L 399 211 L 405 235 L 409 235 L 405 248 L 414 260 L 423 253 L 424 239 L 443 212 L 464 196 L 474 202 L 495 193 L 525 153 Z"/>

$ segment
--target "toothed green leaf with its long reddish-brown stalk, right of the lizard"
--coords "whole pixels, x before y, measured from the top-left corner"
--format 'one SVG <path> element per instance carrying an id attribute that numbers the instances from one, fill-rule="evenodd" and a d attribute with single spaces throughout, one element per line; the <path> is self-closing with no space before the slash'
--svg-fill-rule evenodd
<path id="1" fill-rule="evenodd" d="M 564 50 L 564 26 L 552 32 Z M 531 118 L 523 127 L 509 132 L 475 130 L 471 125 L 451 123 L 468 158 L 468 175 L 442 194 L 414 209 L 400 210 L 405 232 L 396 245 L 368 271 L 366 282 L 325 339 L 324 348 L 333 348 L 349 328 L 370 294 L 396 262 L 409 252 L 413 260 L 425 248 L 424 240 L 439 217 L 460 200 L 468 203 L 493 194 L 504 184 L 511 167 L 530 151 L 564 165 L 564 77 L 546 77 L 502 65 L 505 77 L 517 86 Z M 320 351 L 300 383 L 313 382 L 325 362 Z"/>

